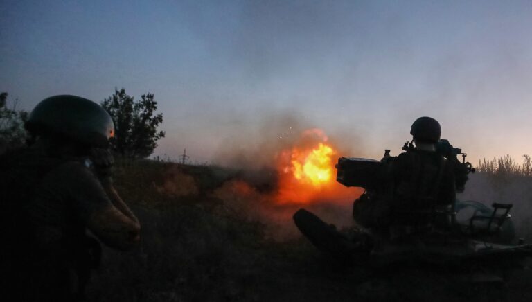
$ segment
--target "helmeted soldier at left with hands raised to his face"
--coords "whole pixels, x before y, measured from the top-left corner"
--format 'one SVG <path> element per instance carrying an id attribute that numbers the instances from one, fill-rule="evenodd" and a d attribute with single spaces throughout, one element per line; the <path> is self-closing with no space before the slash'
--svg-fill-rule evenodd
<path id="1" fill-rule="evenodd" d="M 100 105 L 53 96 L 31 112 L 29 148 L 0 157 L 1 290 L 17 301 L 82 299 L 100 246 L 139 242 L 140 224 L 114 190 L 114 135 Z"/>

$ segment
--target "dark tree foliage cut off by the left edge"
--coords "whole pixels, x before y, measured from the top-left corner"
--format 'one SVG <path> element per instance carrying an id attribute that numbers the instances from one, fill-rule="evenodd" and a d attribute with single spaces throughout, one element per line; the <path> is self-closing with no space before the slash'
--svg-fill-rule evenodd
<path id="1" fill-rule="evenodd" d="M 8 93 L 0 94 L 0 154 L 26 143 L 28 134 L 24 130 L 24 122 L 27 118 L 28 112 L 17 111 L 17 100 L 8 107 Z"/>

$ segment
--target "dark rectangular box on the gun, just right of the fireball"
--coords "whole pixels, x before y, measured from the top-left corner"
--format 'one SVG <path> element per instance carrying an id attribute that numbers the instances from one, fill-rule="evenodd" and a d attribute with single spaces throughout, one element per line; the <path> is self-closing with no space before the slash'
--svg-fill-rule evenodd
<path id="1" fill-rule="evenodd" d="M 336 181 L 344 186 L 373 187 L 381 166 L 382 163 L 375 159 L 340 157 L 336 165 Z"/>

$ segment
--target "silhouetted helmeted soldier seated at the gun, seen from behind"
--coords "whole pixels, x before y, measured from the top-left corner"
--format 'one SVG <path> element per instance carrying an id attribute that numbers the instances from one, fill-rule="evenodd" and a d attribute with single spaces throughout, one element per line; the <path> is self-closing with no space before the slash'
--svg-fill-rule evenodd
<path id="1" fill-rule="evenodd" d="M 456 187 L 454 166 L 436 145 L 441 127 L 434 118 L 418 118 L 411 126 L 414 144 L 398 157 L 385 156 L 381 186 L 355 201 L 353 217 L 392 240 L 449 227 Z"/>

